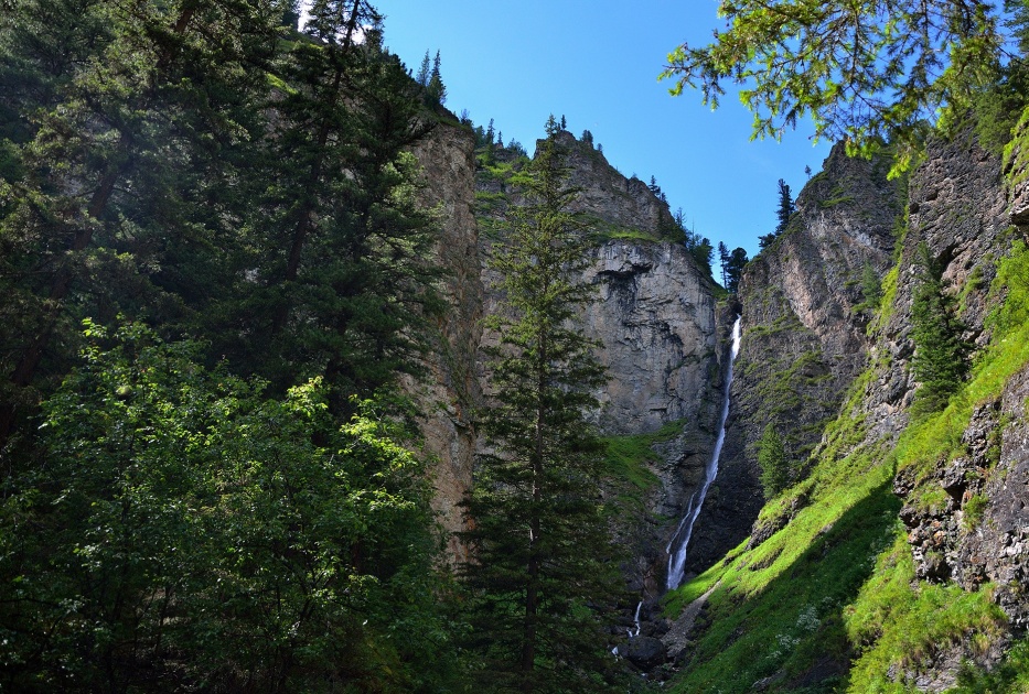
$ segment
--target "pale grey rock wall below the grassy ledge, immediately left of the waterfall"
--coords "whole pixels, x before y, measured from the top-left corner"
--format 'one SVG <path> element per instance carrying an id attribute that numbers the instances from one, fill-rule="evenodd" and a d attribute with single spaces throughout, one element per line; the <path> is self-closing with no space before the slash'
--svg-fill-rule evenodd
<path id="1" fill-rule="evenodd" d="M 682 245 L 613 240 L 594 249 L 585 281 L 598 285 L 582 326 L 600 341 L 610 380 L 598 393 L 605 434 L 646 434 L 669 422 L 679 433 L 656 444 L 647 469 L 657 480 L 642 513 L 619 518 L 631 546 L 630 587 L 664 589 L 665 545 L 704 481 L 716 435 L 721 365 L 710 282 Z"/>

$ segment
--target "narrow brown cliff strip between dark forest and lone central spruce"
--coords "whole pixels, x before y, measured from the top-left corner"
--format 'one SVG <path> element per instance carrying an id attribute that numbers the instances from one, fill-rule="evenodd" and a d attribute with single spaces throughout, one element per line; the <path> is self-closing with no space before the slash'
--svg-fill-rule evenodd
<path id="1" fill-rule="evenodd" d="M 436 247 L 447 269 L 441 290 L 448 310 L 439 321 L 426 367 L 429 377 L 416 386 L 426 449 L 433 458 L 433 507 L 451 533 L 450 555 L 463 557 L 452 533 L 463 528 L 458 503 L 472 484 L 475 434 L 471 410 L 480 402 L 475 360 L 482 335 L 483 290 L 479 231 L 472 212 L 475 192 L 474 140 L 463 129 L 440 124 L 415 150 L 425 170 L 426 202 L 440 206 L 441 234 Z"/>

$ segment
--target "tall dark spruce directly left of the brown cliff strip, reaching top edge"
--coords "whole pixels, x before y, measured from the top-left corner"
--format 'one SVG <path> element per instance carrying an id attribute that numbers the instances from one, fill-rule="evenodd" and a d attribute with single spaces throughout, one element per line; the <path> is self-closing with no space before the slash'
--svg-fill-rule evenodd
<path id="1" fill-rule="evenodd" d="M 334 412 L 398 371 L 417 369 L 424 318 L 437 307 L 429 247 L 437 229 L 418 200 L 409 148 L 436 121 L 396 56 L 358 42 L 380 19 L 365 0 L 315 3 L 309 41 L 277 64 L 266 186 L 246 215 L 235 294 L 212 321 L 215 349 L 276 390 L 320 376 Z M 213 326 L 211 326 L 213 327 Z"/>

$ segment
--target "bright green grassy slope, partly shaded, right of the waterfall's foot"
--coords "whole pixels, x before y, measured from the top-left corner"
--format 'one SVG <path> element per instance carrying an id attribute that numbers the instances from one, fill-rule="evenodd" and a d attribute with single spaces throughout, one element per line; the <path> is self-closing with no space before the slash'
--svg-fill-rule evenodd
<path id="1" fill-rule="evenodd" d="M 892 308 L 896 276 L 888 278 L 883 312 Z M 803 507 L 790 523 L 668 596 L 675 616 L 717 585 L 708 626 L 666 691 L 749 692 L 764 680 L 769 692 L 903 692 L 902 677 L 894 682 L 889 673 L 918 670 L 940 644 L 985 648 L 1003 622 L 989 588 L 965 593 L 914 579 L 891 486 L 898 469 L 928 473 L 953 458 L 973 408 L 998 397 L 1029 364 L 1027 280 L 1029 252 L 1016 242 L 993 289 L 1005 296 L 992 317 L 993 341 L 972 378 L 945 411 L 909 426 L 896 446 L 865 442 L 860 398 L 877 365 L 858 379 L 812 476 L 762 511 L 767 521 Z M 1017 646 L 994 675 L 969 674 L 962 691 L 1029 691 L 1027 651 Z"/>

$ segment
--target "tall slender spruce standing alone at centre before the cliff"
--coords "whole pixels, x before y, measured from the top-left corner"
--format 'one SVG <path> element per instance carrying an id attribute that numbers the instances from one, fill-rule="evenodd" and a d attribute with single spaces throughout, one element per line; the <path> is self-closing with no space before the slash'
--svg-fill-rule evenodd
<path id="1" fill-rule="evenodd" d="M 464 533 L 473 561 L 469 647 L 483 691 L 603 691 L 613 664 L 600 612 L 618 581 L 601 513 L 603 446 L 585 413 L 605 382 L 594 344 L 569 325 L 590 290 L 581 224 L 567 212 L 559 124 L 528 166 L 528 205 L 491 264 L 505 305 L 493 327 L 494 404 L 482 416 L 491 453 L 480 458 L 474 521 Z M 605 557 L 601 560 L 600 557 Z"/>

